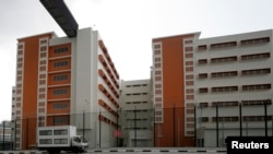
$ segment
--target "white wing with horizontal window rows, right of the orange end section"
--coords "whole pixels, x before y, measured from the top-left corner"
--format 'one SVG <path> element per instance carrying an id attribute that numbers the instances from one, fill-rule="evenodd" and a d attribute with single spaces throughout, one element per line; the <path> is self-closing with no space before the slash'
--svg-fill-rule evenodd
<path id="1" fill-rule="evenodd" d="M 194 40 L 199 146 L 225 146 L 227 135 L 273 135 L 272 45 L 272 29 Z"/>

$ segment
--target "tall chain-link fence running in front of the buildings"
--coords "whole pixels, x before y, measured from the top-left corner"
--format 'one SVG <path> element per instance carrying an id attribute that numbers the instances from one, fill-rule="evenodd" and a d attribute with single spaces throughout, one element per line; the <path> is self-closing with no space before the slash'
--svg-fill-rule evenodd
<path id="1" fill-rule="evenodd" d="M 156 121 L 154 117 L 162 116 Z M 197 105 L 195 107 L 132 109 L 51 115 L 16 119 L 12 149 L 35 149 L 37 127 L 75 126 L 90 147 L 226 146 L 228 135 L 273 135 L 272 105 Z M 7 137 L 5 134 L 3 137 Z M 3 140 L 4 141 L 4 140 Z M 4 141 L 5 142 L 5 141 Z M 0 143 L 1 144 L 1 143 Z M 2 144 L 7 147 L 7 144 Z"/>

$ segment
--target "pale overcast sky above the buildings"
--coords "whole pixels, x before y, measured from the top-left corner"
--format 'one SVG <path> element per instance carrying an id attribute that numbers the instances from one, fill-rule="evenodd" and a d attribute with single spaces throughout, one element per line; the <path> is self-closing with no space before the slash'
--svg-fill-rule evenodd
<path id="1" fill-rule="evenodd" d="M 270 29 L 272 0 L 64 0 L 79 27 L 97 29 L 122 80 L 150 78 L 152 38 Z M 39 0 L 0 0 L 0 122 L 11 119 L 16 38 L 64 33 Z"/>

